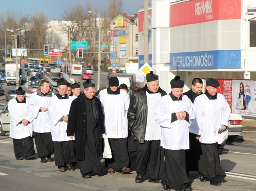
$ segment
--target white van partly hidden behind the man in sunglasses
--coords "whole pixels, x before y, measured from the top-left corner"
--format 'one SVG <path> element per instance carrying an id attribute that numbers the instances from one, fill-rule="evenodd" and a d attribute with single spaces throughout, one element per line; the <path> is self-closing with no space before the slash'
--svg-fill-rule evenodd
<path id="1" fill-rule="evenodd" d="M 123 73 L 111 73 L 109 77 L 116 76 L 120 84 L 126 84 L 128 87 L 128 95 L 129 97 L 136 89 L 136 75 L 135 74 L 123 74 Z"/>

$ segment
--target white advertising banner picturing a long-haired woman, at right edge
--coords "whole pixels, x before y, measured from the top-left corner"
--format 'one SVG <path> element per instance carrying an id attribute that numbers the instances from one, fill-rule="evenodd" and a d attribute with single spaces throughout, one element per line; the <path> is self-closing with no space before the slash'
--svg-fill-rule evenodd
<path id="1" fill-rule="evenodd" d="M 233 113 L 256 117 L 256 81 L 233 80 Z"/>

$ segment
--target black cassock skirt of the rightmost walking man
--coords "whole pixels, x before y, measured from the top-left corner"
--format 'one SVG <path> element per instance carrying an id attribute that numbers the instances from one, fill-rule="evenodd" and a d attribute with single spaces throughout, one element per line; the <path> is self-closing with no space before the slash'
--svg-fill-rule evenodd
<path id="1" fill-rule="evenodd" d="M 220 156 L 217 150 L 217 144 L 201 143 L 202 155 L 199 160 L 199 174 L 206 178 L 220 176 L 226 177 L 226 173 L 220 166 Z"/>

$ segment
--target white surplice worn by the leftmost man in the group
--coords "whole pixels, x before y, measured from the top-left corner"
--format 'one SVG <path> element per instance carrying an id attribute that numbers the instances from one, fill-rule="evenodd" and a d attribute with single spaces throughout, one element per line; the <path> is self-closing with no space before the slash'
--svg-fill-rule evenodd
<path id="1" fill-rule="evenodd" d="M 11 99 L 8 102 L 8 110 L 10 113 L 10 137 L 14 139 L 22 139 L 26 137 L 32 137 L 33 125 L 32 116 L 28 115 L 28 100 L 26 103 L 18 103 L 16 98 Z M 22 120 L 26 119 L 30 123 L 26 126 L 22 124 Z"/>

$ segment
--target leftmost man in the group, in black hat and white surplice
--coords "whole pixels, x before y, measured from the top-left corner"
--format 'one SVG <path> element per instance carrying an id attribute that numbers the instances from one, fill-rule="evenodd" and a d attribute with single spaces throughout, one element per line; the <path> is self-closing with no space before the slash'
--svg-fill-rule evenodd
<path id="1" fill-rule="evenodd" d="M 34 159 L 34 142 L 32 138 L 32 116 L 28 115 L 28 98 L 25 91 L 19 87 L 16 98 L 8 102 L 10 113 L 10 137 L 13 138 L 13 148 L 16 160 Z"/>

